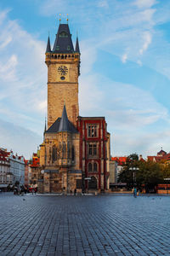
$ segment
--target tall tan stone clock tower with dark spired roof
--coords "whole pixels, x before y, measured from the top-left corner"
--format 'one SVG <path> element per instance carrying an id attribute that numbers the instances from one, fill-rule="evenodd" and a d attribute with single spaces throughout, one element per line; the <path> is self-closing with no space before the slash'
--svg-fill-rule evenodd
<path id="1" fill-rule="evenodd" d="M 77 125 L 78 76 L 80 75 L 80 50 L 78 39 L 74 49 L 68 24 L 59 24 L 51 49 L 50 40 L 46 49 L 48 66 L 48 128 L 67 110 L 68 119 Z"/>

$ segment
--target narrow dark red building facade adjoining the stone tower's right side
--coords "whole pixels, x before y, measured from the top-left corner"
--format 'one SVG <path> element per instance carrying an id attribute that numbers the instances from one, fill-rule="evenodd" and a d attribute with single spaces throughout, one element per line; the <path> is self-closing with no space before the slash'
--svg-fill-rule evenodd
<path id="1" fill-rule="evenodd" d="M 110 134 L 104 117 L 78 117 L 82 188 L 108 189 Z"/>

